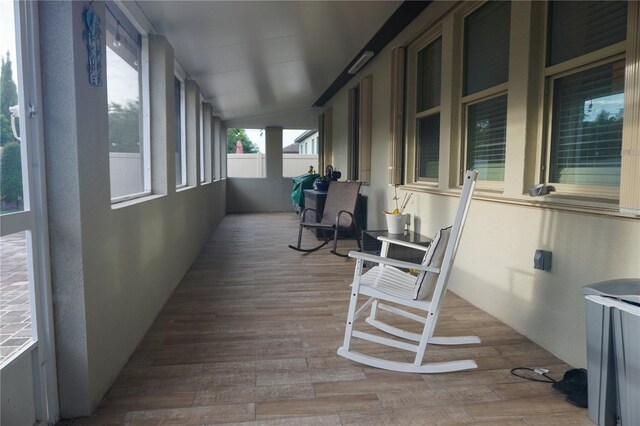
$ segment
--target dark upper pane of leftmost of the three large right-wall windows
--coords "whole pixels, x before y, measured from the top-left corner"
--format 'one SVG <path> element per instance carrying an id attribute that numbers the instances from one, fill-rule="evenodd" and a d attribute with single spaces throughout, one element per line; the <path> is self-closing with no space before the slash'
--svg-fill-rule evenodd
<path id="1" fill-rule="evenodd" d="M 442 38 L 438 38 L 418 52 L 416 111 L 440 105 L 442 73 Z"/>

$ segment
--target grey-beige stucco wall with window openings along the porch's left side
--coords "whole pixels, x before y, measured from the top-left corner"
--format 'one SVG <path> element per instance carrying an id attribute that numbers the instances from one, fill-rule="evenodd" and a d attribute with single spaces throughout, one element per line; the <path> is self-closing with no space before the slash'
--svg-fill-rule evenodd
<path id="1" fill-rule="evenodd" d="M 39 5 L 40 31 L 48 35 L 40 40 L 40 111 L 63 418 L 92 413 L 224 216 L 226 203 L 225 180 L 200 184 L 191 176 L 190 187 L 173 185 L 173 50 L 156 36 L 150 40 L 153 195 L 111 204 L 107 88 L 88 83 L 85 6 Z M 104 4 L 93 7 L 106 22 Z M 189 164 L 197 164 L 197 156 L 189 155 Z"/>

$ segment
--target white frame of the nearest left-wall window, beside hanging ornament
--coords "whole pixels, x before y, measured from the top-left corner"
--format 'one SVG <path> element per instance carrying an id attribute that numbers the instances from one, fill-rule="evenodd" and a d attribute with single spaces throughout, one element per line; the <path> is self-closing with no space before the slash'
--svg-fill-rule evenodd
<path id="1" fill-rule="evenodd" d="M 140 153 L 142 155 L 142 191 L 126 194 L 118 197 L 111 197 L 111 205 L 115 207 L 119 203 L 126 201 L 139 199 L 152 195 L 152 177 L 151 177 L 151 114 L 150 114 L 150 70 L 149 70 L 149 33 L 140 23 L 131 15 L 131 13 L 124 7 L 121 7 L 115 1 L 110 1 L 105 4 L 105 8 L 115 7 L 118 11 L 124 15 L 129 21 L 129 24 L 138 31 L 140 34 L 140 70 L 138 72 L 138 84 L 139 84 L 139 97 L 140 97 L 140 142 L 142 143 L 142 149 Z M 105 13 L 111 13 L 105 11 Z M 107 26 L 105 24 L 105 31 Z M 106 37 L 105 37 L 106 40 Z M 106 42 L 106 41 L 105 41 Z M 106 46 L 106 48 L 109 48 Z M 106 60 L 106 58 L 105 58 Z M 105 69 L 106 71 L 106 69 Z M 108 73 L 105 73 L 105 80 L 108 84 Z"/>

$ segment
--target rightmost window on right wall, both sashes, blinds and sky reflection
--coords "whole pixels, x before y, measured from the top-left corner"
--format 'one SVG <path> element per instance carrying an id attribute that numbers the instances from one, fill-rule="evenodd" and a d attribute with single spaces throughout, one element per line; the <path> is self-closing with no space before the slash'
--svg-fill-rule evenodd
<path id="1" fill-rule="evenodd" d="M 545 167 L 547 182 L 559 192 L 617 196 L 625 81 L 620 42 L 626 38 L 626 14 L 626 2 L 549 5 Z"/>

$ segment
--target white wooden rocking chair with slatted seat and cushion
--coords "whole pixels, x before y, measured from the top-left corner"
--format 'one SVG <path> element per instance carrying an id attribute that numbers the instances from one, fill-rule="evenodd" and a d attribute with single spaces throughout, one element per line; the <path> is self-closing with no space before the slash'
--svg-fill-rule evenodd
<path id="1" fill-rule="evenodd" d="M 451 274 L 453 260 L 469 211 L 477 176 L 477 171 L 467 171 L 453 226 L 438 231 L 433 242 L 428 247 L 379 237 L 382 241 L 380 256 L 354 251 L 349 253 L 349 257 L 355 258 L 357 262 L 351 289 L 351 301 L 349 303 L 344 342 L 338 349 L 338 355 L 372 367 L 408 373 L 445 373 L 477 368 L 477 364 L 473 360 L 436 363 L 423 362 L 424 353 L 428 344 L 466 345 L 480 343 L 480 339 L 477 336 L 433 336 L 433 331 L 438 321 L 438 314 L 442 306 L 442 300 L 444 299 L 447 289 L 447 281 Z M 422 264 L 388 258 L 387 252 L 390 244 L 398 244 L 426 251 Z M 369 264 L 377 264 L 377 266 L 363 273 L 365 261 Z M 416 277 L 404 272 L 402 269 L 417 270 L 419 274 Z M 369 299 L 358 308 L 358 297 L 360 295 L 368 296 Z M 416 308 L 424 312 L 424 316 L 405 311 L 397 306 L 383 302 L 391 302 L 394 305 Z M 355 330 L 354 325 L 356 320 L 362 316 L 369 307 L 370 314 L 365 319 L 366 323 L 378 330 L 404 340 Z M 382 322 L 376 317 L 378 309 L 424 324 L 422 333 L 406 331 Z M 415 359 L 413 362 L 399 362 L 356 352 L 351 348 L 352 337 L 415 352 Z"/>

